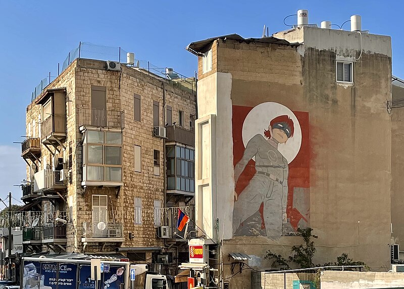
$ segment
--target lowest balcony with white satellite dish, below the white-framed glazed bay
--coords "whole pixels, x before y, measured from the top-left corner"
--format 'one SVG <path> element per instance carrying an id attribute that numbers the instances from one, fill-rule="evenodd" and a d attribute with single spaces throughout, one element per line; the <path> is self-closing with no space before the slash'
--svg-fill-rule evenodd
<path id="1" fill-rule="evenodd" d="M 104 227 L 105 225 L 105 227 Z M 121 223 L 83 222 L 81 242 L 124 242 Z"/>

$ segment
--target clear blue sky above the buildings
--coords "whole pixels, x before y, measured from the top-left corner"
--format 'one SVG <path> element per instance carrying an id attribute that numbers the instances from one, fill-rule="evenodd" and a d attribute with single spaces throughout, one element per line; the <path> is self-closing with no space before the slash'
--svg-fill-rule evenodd
<path id="1" fill-rule="evenodd" d="M 136 59 L 193 76 L 196 57 L 185 51 L 192 41 L 238 33 L 261 37 L 287 29 L 285 16 L 309 10 L 309 22 L 329 20 L 341 25 L 362 16 L 362 29 L 390 35 L 393 74 L 404 77 L 402 47 L 403 1 L 14 1 L 0 0 L 0 198 L 25 178 L 19 156 L 25 134 L 25 109 L 31 92 L 51 72 L 57 75 L 79 41 L 121 46 Z M 295 24 L 295 17 L 287 23 Z M 333 26 L 336 27 L 336 26 Z M 349 29 L 349 23 L 344 29 Z M 16 202 L 16 201 L 13 201 Z M 2 208 L 0 204 L 0 208 Z"/>

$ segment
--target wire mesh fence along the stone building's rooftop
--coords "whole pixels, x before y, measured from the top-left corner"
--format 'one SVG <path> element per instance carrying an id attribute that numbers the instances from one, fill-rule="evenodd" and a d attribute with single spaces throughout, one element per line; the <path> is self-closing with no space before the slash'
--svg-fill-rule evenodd
<path id="1" fill-rule="evenodd" d="M 75 59 L 87 58 L 95 60 L 111 60 L 126 64 L 127 51 L 123 50 L 120 46 L 104 46 L 93 44 L 90 42 L 80 42 L 77 47 L 72 49 L 60 67 L 58 63 L 58 76 L 62 73 Z M 196 91 L 196 75 L 195 77 L 186 77 L 174 70 L 167 67 L 158 67 L 150 64 L 148 61 L 135 59 L 134 67 L 143 69 L 150 74 L 154 74 L 161 78 L 171 82 L 174 86 L 178 86 L 180 89 Z M 31 94 L 31 102 L 38 97 L 39 94 L 48 86 L 56 76 L 49 75 L 43 78 L 39 84 L 35 87 Z"/>

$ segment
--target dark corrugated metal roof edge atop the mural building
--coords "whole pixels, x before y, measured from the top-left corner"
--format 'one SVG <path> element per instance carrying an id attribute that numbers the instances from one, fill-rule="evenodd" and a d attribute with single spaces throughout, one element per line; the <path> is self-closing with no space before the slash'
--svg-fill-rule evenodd
<path id="1" fill-rule="evenodd" d="M 272 36 L 269 37 L 262 37 L 262 38 L 243 38 L 242 36 L 238 34 L 228 34 L 228 35 L 223 35 L 223 36 L 217 36 L 217 37 L 212 37 L 208 38 L 205 40 L 200 40 L 196 42 L 191 42 L 187 47 L 186 50 L 189 51 L 190 53 L 193 53 L 194 55 L 201 55 L 203 52 L 206 52 L 207 46 L 211 45 L 213 41 L 216 39 L 223 39 L 223 40 L 236 40 L 239 42 L 245 42 L 245 43 L 250 43 L 250 42 L 260 42 L 260 43 L 271 43 L 271 44 L 282 44 L 282 45 L 289 45 L 289 46 L 297 46 L 300 45 L 298 42 L 289 42 L 286 41 L 285 39 L 279 39 L 275 38 Z"/>

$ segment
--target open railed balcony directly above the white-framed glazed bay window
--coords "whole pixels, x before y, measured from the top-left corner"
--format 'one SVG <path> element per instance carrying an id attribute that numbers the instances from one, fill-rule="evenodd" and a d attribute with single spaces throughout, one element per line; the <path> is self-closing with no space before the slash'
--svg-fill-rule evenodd
<path id="1" fill-rule="evenodd" d="M 79 108 L 77 123 L 80 126 L 124 128 L 125 113 L 113 109 Z"/>

